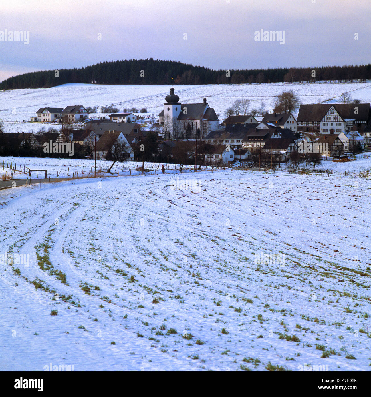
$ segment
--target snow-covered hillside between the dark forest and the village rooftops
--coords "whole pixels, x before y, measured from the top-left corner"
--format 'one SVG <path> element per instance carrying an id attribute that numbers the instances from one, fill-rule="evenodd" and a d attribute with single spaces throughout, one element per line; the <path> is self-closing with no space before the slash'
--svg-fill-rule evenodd
<path id="1" fill-rule="evenodd" d="M 0 120 L 6 123 L 6 132 L 31 132 L 44 127 L 59 128 L 58 124 L 22 123 L 42 106 L 65 107 L 80 104 L 87 106 L 106 106 L 113 103 L 119 111 L 135 106 L 145 107 L 148 114 L 163 110 L 165 96 L 169 94 L 167 85 L 94 85 L 71 83 L 46 89 L 19 89 L 0 91 Z M 352 98 L 361 102 L 371 102 L 371 82 L 366 83 L 264 83 L 229 85 L 177 85 L 175 93 L 183 103 L 200 103 L 206 96 L 208 104 L 223 118 L 225 110 L 236 99 L 250 99 L 250 110 L 260 108 L 265 102 L 266 110 L 273 108 L 275 97 L 294 90 L 304 104 L 321 102 L 336 103 L 344 91 L 350 91 Z M 102 116 L 94 114 L 92 117 Z M 106 115 L 107 116 L 107 115 Z"/>

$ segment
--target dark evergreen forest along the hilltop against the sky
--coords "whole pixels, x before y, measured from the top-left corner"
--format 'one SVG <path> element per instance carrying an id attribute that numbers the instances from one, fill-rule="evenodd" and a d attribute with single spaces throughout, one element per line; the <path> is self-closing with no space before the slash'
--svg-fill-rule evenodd
<path id="1" fill-rule="evenodd" d="M 314 72 L 313 72 L 314 71 Z M 66 83 L 91 84 L 228 84 L 365 81 L 371 64 L 305 68 L 213 70 L 177 61 L 132 59 L 100 62 L 91 66 L 43 70 L 9 77 L 0 89 L 48 88 Z"/>

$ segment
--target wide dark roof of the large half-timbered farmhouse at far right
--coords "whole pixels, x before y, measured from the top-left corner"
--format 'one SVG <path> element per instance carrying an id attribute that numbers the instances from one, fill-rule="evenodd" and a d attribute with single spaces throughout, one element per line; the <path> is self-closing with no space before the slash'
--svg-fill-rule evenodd
<path id="1" fill-rule="evenodd" d="M 312 104 L 300 105 L 296 121 L 321 121 L 328 110 L 334 106 L 343 119 L 356 119 L 369 121 L 371 108 L 369 103 L 358 104 Z M 354 114 L 354 108 L 358 108 L 358 114 Z"/>

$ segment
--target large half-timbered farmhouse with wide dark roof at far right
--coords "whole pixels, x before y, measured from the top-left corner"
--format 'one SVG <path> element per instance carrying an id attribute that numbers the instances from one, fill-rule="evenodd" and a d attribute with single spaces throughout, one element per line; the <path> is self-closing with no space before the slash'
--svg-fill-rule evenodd
<path id="1" fill-rule="evenodd" d="M 300 105 L 297 118 L 298 129 L 321 134 L 363 132 L 370 120 L 369 103 Z"/>

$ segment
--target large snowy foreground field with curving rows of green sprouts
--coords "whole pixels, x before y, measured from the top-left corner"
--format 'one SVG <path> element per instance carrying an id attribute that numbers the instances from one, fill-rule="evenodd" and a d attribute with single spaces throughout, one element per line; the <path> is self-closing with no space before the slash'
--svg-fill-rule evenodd
<path id="1" fill-rule="evenodd" d="M 0 370 L 368 371 L 369 182 L 176 176 L 0 191 Z"/>

